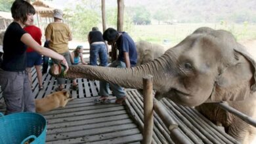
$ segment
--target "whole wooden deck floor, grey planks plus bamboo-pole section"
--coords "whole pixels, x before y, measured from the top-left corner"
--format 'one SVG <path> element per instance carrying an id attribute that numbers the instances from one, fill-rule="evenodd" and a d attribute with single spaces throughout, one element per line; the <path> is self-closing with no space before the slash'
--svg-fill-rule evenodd
<path id="1" fill-rule="evenodd" d="M 33 96 L 43 98 L 54 92 L 56 79 L 43 75 L 44 89 L 39 90 L 33 70 Z M 137 90 L 127 89 L 126 105 L 97 105 L 98 81 L 77 79 L 79 90 L 71 90 L 73 101 L 64 108 L 43 114 L 47 119 L 47 143 L 141 143 L 143 98 Z M 70 80 L 66 89 L 70 89 Z M 1 98 L 1 94 L 0 94 Z M 115 99 L 112 97 L 112 99 Z M 0 99 L 3 101 L 3 98 Z M 161 100 L 170 117 L 179 124 L 179 130 L 191 143 L 238 143 L 215 124 L 190 107 L 176 105 L 169 99 Z M 0 104 L 0 111 L 5 106 Z M 169 130 L 154 113 L 153 143 L 173 143 Z"/>

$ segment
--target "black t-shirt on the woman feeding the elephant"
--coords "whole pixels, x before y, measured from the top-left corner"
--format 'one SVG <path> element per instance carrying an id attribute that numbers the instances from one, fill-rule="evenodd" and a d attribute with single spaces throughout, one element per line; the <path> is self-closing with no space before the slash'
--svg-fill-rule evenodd
<path id="1" fill-rule="evenodd" d="M 24 71 L 26 69 L 27 46 L 20 41 L 26 31 L 20 24 L 12 22 L 3 37 L 3 63 L 1 69 L 5 71 Z"/>

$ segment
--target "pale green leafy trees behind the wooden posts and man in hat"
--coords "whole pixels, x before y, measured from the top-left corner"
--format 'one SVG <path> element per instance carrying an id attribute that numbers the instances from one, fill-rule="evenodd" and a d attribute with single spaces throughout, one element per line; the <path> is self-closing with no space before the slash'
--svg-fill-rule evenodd
<path id="1" fill-rule="evenodd" d="M 87 41 L 87 35 L 92 27 L 102 26 L 101 5 L 95 1 L 82 0 L 77 2 L 74 9 L 67 8 L 64 10 L 68 16 L 70 27 L 75 39 Z M 125 12 L 123 30 L 131 30 L 132 20 L 129 14 Z M 117 7 L 106 9 L 107 27 L 117 26 Z"/>

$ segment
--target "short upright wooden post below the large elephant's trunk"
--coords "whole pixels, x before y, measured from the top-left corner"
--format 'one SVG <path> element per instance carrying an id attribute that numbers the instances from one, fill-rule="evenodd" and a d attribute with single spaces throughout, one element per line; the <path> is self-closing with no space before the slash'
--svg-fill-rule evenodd
<path id="1" fill-rule="evenodd" d="M 143 77 L 144 96 L 144 130 L 143 143 L 152 143 L 154 116 L 153 116 L 153 76 Z"/>

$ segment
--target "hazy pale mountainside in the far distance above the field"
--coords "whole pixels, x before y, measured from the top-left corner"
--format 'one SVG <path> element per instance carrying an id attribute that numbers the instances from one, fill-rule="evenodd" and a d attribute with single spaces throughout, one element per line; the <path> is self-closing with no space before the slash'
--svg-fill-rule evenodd
<path id="1" fill-rule="evenodd" d="M 64 7 L 74 6 L 77 3 L 74 1 L 53 0 L 51 3 L 64 9 Z M 101 3 L 99 0 L 94 1 Z M 256 23 L 256 0 L 124 0 L 124 2 L 127 8 L 146 8 L 151 16 L 159 11 L 169 12 L 170 19 L 175 20 L 175 22 L 232 21 Z M 106 7 L 117 7 L 117 0 L 106 0 Z"/>

